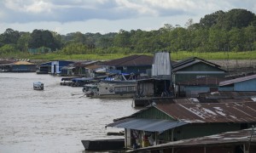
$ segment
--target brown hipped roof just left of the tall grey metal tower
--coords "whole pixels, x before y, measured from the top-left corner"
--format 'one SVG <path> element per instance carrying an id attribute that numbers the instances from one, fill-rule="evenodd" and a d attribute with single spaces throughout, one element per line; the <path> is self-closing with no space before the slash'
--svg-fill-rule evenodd
<path id="1" fill-rule="evenodd" d="M 148 55 L 138 55 L 133 54 L 131 56 L 127 56 L 120 59 L 113 59 L 109 61 L 105 61 L 102 65 L 109 66 L 138 66 L 138 65 L 152 65 L 153 57 Z"/>

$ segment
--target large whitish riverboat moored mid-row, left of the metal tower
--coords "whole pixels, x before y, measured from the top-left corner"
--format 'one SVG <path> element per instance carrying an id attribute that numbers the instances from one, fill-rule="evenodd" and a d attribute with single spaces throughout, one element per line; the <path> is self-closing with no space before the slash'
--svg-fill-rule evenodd
<path id="1" fill-rule="evenodd" d="M 99 82 L 84 85 L 83 92 L 91 98 L 132 98 L 137 82 Z"/>

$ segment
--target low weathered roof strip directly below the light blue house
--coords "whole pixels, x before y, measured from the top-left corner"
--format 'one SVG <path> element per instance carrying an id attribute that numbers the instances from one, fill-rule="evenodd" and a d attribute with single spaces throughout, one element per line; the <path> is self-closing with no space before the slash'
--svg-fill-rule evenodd
<path id="1" fill-rule="evenodd" d="M 248 99 L 256 96 L 256 92 L 212 92 L 200 93 L 200 99 Z"/>

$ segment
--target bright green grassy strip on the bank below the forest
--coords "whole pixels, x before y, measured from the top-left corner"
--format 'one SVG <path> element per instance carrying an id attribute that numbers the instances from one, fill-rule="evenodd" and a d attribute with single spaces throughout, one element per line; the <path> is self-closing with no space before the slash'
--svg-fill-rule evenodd
<path id="1" fill-rule="evenodd" d="M 107 59 L 119 59 L 131 54 L 12 54 L 16 59 L 44 59 L 44 60 L 107 60 Z M 147 54 L 153 56 L 154 54 Z M 188 52 L 188 51 L 178 51 L 171 53 L 172 60 L 187 59 L 189 57 L 198 57 L 201 59 L 256 59 L 256 51 L 248 52 L 212 52 L 212 53 L 201 53 L 201 52 Z"/>

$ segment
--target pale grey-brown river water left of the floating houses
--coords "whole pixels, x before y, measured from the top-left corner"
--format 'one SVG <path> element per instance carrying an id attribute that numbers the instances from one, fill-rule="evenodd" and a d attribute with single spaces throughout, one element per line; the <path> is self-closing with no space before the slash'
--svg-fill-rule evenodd
<path id="1" fill-rule="evenodd" d="M 44 91 L 32 82 L 44 82 Z M 1 153 L 82 153 L 82 139 L 112 139 L 105 128 L 136 112 L 131 99 L 90 99 L 82 88 L 61 86 L 61 77 L 0 73 Z M 75 95 L 73 95 L 75 94 Z"/>

